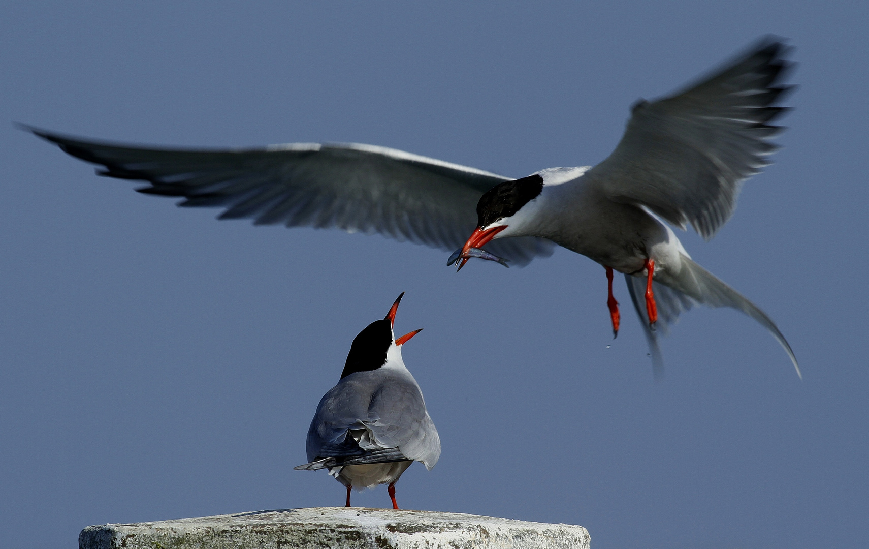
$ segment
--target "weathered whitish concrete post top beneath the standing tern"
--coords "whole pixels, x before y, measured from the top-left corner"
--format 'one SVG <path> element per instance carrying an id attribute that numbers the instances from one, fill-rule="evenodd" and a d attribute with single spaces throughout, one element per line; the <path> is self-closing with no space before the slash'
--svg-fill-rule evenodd
<path id="1" fill-rule="evenodd" d="M 80 549 L 587 549 L 582 526 L 454 512 L 314 507 L 88 526 Z"/>

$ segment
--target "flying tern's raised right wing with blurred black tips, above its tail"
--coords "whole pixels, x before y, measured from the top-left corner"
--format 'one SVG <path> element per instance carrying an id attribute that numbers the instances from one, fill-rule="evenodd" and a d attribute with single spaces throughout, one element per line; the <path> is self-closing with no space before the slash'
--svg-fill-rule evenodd
<path id="1" fill-rule="evenodd" d="M 792 86 L 786 46 L 766 37 L 687 90 L 634 105 L 621 141 L 586 177 L 616 202 L 643 204 L 707 240 L 733 214 L 740 184 L 770 164 L 773 106 Z"/>

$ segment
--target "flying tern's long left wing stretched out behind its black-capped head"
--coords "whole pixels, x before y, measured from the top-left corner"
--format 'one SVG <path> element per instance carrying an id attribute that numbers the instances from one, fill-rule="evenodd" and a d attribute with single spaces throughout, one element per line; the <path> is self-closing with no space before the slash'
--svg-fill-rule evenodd
<path id="1" fill-rule="evenodd" d="M 509 179 L 366 144 L 158 149 L 27 129 L 74 157 L 102 164 L 99 175 L 147 181 L 136 191 L 182 197 L 180 206 L 222 207 L 221 219 L 379 232 L 448 251 L 474 231 L 482 194 Z M 491 248 L 519 265 L 550 255 L 554 247 L 542 238 L 510 240 Z"/>

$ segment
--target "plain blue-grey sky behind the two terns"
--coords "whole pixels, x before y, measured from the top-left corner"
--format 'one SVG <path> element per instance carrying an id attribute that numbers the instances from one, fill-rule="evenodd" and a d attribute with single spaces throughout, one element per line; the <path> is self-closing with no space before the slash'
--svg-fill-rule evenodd
<path id="1" fill-rule="evenodd" d="M 90 524 L 341 505 L 296 472 L 350 342 L 396 330 L 443 445 L 411 509 L 586 526 L 594 547 L 853 547 L 869 516 L 869 7 L 3 3 L 0 548 Z M 799 90 L 776 164 L 693 258 L 765 309 L 687 313 L 655 383 L 600 265 L 217 222 L 12 127 L 147 144 L 380 144 L 522 177 L 594 164 L 628 106 L 766 33 Z M 607 345 L 611 345 L 607 348 Z M 388 506 L 384 488 L 354 495 Z"/>

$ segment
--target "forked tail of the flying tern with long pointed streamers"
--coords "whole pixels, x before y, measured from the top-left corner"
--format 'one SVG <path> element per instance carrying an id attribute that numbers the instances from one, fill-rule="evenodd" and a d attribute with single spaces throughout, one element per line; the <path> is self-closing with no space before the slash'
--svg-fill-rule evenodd
<path id="1" fill-rule="evenodd" d="M 645 302 L 641 302 L 639 299 L 646 291 L 646 279 L 625 275 L 625 280 L 627 281 L 627 290 L 631 294 L 631 301 L 634 302 L 634 309 L 640 316 L 640 324 L 643 325 L 646 332 L 656 378 L 660 377 L 664 371 L 664 362 L 658 346 L 658 331 L 666 334 L 668 325 L 673 324 L 682 311 L 687 311 L 697 304 L 713 308 L 731 307 L 757 320 L 760 325 L 773 334 L 773 338 L 785 349 L 787 356 L 793 362 L 797 375 L 800 379 L 803 378 L 802 372 L 799 372 L 799 364 L 791 350 L 791 345 L 787 344 L 785 336 L 779 331 L 772 318 L 766 316 L 766 312 L 761 311 L 760 307 L 742 297 L 740 292 L 733 290 L 686 255 L 682 255 L 682 270 L 677 276 L 662 273 L 660 280 L 653 282 L 655 302 L 658 304 L 658 322 L 654 328 L 648 324 Z"/>

